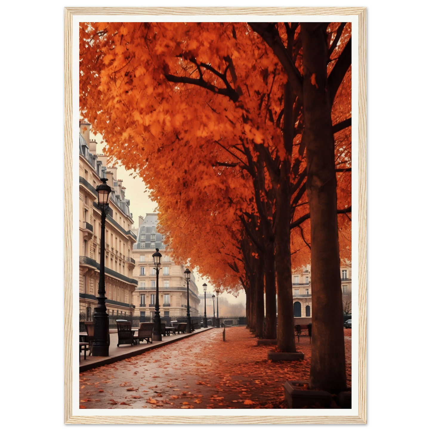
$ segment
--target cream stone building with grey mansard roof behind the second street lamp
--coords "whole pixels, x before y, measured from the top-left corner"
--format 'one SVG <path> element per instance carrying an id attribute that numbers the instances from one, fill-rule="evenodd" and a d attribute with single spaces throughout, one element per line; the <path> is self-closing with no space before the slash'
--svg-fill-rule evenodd
<path id="1" fill-rule="evenodd" d="M 133 293 L 134 315 L 153 317 L 156 303 L 156 270 L 153 264 L 153 253 L 156 248 L 162 254 L 159 271 L 159 306 L 160 317 L 187 315 L 187 284 L 184 280 L 184 265 L 175 265 L 169 249 L 163 244 L 164 236 L 157 232 L 157 214 L 149 213 L 145 219 L 139 217 L 139 228 L 134 230 L 137 243 L 133 247 L 133 258 L 136 266 L 133 278 L 138 286 Z M 190 315 L 199 315 L 199 293 L 193 272 L 189 281 Z"/>

